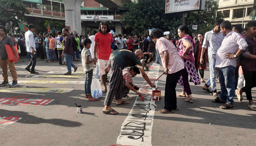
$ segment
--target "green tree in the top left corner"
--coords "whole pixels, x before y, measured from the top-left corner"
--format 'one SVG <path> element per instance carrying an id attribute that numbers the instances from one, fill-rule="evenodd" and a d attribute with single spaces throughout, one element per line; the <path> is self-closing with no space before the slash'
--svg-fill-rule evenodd
<path id="1" fill-rule="evenodd" d="M 16 0 L 0 0 L 0 24 L 7 29 L 19 27 L 17 22 L 26 20 L 25 14 L 30 14 L 25 5 Z"/>

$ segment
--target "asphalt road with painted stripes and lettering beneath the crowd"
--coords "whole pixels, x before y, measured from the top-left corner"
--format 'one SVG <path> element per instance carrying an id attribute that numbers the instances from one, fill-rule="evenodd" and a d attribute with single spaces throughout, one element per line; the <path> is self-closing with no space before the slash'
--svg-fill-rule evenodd
<path id="1" fill-rule="evenodd" d="M 148 101 L 141 101 L 130 92 L 131 104 L 116 106 L 112 103 L 121 114 L 105 115 L 102 113 L 105 94 L 95 102 L 84 99 L 81 66 L 78 73 L 62 76 L 67 72 L 65 66 L 38 61 L 36 71 L 39 74 L 31 75 L 24 69 L 27 63 L 26 58 L 21 58 L 15 64 L 19 86 L 0 88 L 0 145 L 256 145 L 256 112 L 247 107 L 247 100 L 241 103 L 235 98 L 233 109 L 222 110 L 221 104 L 211 102 L 212 95 L 202 91 L 203 85 L 191 84 L 194 103 L 177 97 L 180 110 L 173 114 L 157 112 L 163 108 L 163 99 L 155 102 L 146 94 Z M 81 65 L 81 62 L 75 64 Z M 155 78 L 163 72 L 162 66 L 152 66 L 147 72 L 149 77 Z M 205 80 L 208 77 L 206 70 Z M 155 82 L 162 96 L 165 78 L 162 76 Z M 143 87 L 142 92 L 151 93 L 141 75 L 133 81 Z M 217 89 L 220 89 L 219 82 Z M 176 91 L 180 93 L 182 87 L 177 85 Z M 255 88 L 252 93 L 255 99 Z M 76 113 L 75 103 L 82 105 L 82 114 Z"/>

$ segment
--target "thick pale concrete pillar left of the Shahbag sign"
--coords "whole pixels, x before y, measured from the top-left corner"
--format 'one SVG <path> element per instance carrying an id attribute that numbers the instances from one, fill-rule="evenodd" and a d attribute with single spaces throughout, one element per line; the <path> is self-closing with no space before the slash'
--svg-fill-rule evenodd
<path id="1" fill-rule="evenodd" d="M 70 31 L 81 34 L 81 4 L 84 0 L 62 0 L 65 5 L 65 26 L 70 26 Z M 70 32 L 70 33 L 71 33 Z"/>

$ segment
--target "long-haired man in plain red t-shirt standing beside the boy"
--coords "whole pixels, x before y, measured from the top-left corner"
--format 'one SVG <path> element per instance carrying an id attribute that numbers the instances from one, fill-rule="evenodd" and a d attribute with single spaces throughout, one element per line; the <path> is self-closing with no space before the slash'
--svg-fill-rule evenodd
<path id="1" fill-rule="evenodd" d="M 107 91 L 106 75 L 108 74 L 104 72 L 104 69 L 109 65 L 109 56 L 114 51 L 111 49 L 113 37 L 110 31 L 108 22 L 102 21 L 99 24 L 99 32 L 94 38 L 94 58 L 99 64 L 99 75 L 104 85 L 103 93 Z"/>

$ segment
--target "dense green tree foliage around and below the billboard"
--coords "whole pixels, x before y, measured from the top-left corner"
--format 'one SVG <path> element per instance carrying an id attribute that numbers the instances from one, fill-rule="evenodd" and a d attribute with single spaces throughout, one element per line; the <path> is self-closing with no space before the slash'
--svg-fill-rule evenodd
<path id="1" fill-rule="evenodd" d="M 176 30 L 182 24 L 182 13 L 165 14 L 165 0 L 138 0 L 138 3 L 124 3 L 120 8 L 128 9 L 121 18 L 124 28 L 132 28 L 132 33 L 143 34 L 148 29 L 159 28 L 163 31 Z M 198 30 L 192 32 L 208 31 L 216 20 L 218 3 L 206 0 L 205 10 L 188 12 L 187 25 L 198 22 Z M 222 14 L 217 18 L 222 18 Z"/>

